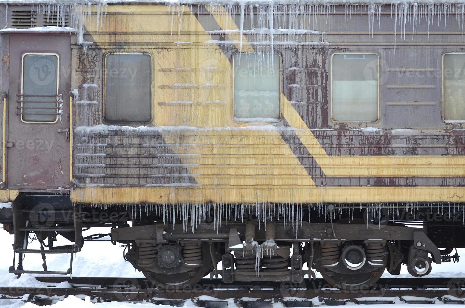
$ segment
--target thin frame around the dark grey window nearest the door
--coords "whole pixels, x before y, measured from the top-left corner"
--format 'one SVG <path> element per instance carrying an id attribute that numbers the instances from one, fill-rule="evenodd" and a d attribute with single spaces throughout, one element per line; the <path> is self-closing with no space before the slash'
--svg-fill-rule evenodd
<path id="1" fill-rule="evenodd" d="M 148 55 L 150 57 L 150 119 L 148 121 L 123 121 L 123 120 L 117 120 L 117 121 L 109 121 L 106 119 L 105 114 L 106 114 L 106 57 L 109 55 L 113 54 L 140 54 L 140 55 Z M 110 123 L 113 125 L 124 125 L 124 124 L 147 124 L 147 123 L 152 123 L 153 122 L 153 59 L 152 59 L 152 54 L 144 51 L 135 51 L 135 52 L 118 52 L 118 51 L 109 51 L 106 52 L 103 55 L 103 110 L 102 110 L 102 119 L 104 123 Z"/>

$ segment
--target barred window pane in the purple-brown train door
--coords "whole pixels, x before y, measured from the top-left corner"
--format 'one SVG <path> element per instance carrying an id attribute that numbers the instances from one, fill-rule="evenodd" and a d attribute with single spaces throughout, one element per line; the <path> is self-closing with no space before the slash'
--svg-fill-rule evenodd
<path id="1" fill-rule="evenodd" d="M 24 54 L 20 114 L 24 122 L 54 123 L 58 116 L 58 55 Z"/>

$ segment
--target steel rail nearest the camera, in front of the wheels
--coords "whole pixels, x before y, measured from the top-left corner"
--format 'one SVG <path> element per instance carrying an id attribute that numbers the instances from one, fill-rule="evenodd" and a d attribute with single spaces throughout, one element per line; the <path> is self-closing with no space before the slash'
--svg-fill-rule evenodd
<path id="1" fill-rule="evenodd" d="M 133 289 L 133 288 L 0 288 L 2 298 L 19 299 L 24 295 L 46 296 L 58 299 L 61 296 L 89 296 L 91 300 L 97 301 L 152 301 L 162 299 L 165 301 L 185 301 L 199 296 L 211 296 L 218 300 L 229 300 L 246 298 L 248 301 L 283 301 L 288 297 L 296 299 L 320 298 L 320 301 L 352 301 L 365 304 L 367 301 L 389 301 L 393 303 L 395 298 L 401 301 L 405 296 L 422 297 L 421 301 L 431 301 L 438 298 L 440 301 L 453 301 L 463 304 L 465 297 L 464 289 L 386 289 L 386 290 L 364 290 L 364 291 L 343 291 L 337 289 L 277 289 L 277 290 L 256 290 L 256 289 Z M 373 297 L 383 297 L 375 299 Z M 390 299 L 386 300 L 388 297 Z M 252 298 L 250 300 L 250 298 Z M 372 299 L 367 299 L 372 298 Z M 357 301 L 357 299 L 359 299 Z M 426 299 L 426 300 L 425 300 Z M 428 300 L 429 299 L 429 300 Z M 409 298 L 409 300 L 411 300 Z M 420 300 L 420 299 L 419 299 Z M 381 302 L 379 302 L 381 303 Z M 342 304 L 342 303 L 341 303 Z"/>

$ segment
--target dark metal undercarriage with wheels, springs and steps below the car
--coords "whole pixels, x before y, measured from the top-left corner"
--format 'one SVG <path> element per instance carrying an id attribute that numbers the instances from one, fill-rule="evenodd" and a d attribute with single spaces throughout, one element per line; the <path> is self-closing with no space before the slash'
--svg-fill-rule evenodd
<path id="1" fill-rule="evenodd" d="M 18 257 L 10 272 L 39 273 L 22 260 L 40 254 L 43 273 L 71 274 L 72 259 L 67 272 L 50 272 L 46 254 L 73 255 L 100 236 L 84 237 L 83 229 L 111 227 L 109 241 L 124 245 L 125 260 L 160 288 L 193 288 L 207 275 L 299 284 L 319 272 L 333 287 L 359 290 L 385 270 L 399 275 L 402 264 L 412 276 L 428 275 L 434 263 L 458 261 L 449 254 L 465 246 L 458 205 L 449 212 L 442 204 L 91 206 L 34 194 L 19 196 L 12 209 L 12 221 L 3 219 Z M 27 248 L 31 234 L 40 249 Z M 57 235 L 71 244 L 54 247 Z"/>

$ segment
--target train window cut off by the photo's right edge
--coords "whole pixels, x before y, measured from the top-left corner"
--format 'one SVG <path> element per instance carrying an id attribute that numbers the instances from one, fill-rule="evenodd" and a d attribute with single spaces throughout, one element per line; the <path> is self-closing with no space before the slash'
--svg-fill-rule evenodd
<path id="1" fill-rule="evenodd" d="M 443 116 L 445 121 L 465 121 L 465 53 L 443 57 Z"/>

